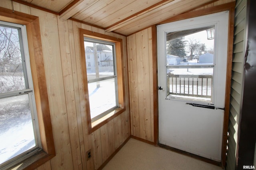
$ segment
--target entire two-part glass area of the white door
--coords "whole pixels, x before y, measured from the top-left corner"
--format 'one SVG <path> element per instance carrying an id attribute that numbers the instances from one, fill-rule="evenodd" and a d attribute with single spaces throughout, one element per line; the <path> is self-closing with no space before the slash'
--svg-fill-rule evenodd
<path id="1" fill-rule="evenodd" d="M 166 33 L 166 98 L 212 103 L 214 26 Z"/>

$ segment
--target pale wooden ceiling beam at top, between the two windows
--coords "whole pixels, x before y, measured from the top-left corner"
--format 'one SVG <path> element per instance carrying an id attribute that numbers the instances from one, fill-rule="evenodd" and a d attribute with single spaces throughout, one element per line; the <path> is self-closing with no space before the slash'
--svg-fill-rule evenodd
<path id="1" fill-rule="evenodd" d="M 64 9 L 60 12 L 60 19 L 68 20 L 77 13 L 83 12 L 84 10 L 88 9 L 90 6 L 98 1 L 99 0 L 78 0 L 75 4 L 68 6 L 67 9 Z"/>

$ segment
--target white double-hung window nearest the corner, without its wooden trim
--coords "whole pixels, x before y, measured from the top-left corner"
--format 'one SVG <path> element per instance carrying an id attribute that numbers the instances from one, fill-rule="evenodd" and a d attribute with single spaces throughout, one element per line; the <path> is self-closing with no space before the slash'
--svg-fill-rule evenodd
<path id="1" fill-rule="evenodd" d="M 119 107 L 115 43 L 84 37 L 92 122 Z"/>

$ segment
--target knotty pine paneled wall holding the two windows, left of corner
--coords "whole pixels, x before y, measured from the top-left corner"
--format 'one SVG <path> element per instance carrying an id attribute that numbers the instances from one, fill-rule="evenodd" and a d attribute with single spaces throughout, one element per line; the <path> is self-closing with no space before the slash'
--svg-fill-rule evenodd
<path id="1" fill-rule="evenodd" d="M 12 9 L 10 0 L 1 0 L 0 6 Z M 130 137 L 126 37 L 106 33 L 123 39 L 126 111 L 88 134 L 78 28 L 103 34 L 105 31 L 76 21 L 63 21 L 55 14 L 16 2 L 13 6 L 14 11 L 38 16 L 40 20 L 56 156 L 37 169 L 98 169 Z M 90 149 L 93 158 L 86 160 L 86 152 Z"/>

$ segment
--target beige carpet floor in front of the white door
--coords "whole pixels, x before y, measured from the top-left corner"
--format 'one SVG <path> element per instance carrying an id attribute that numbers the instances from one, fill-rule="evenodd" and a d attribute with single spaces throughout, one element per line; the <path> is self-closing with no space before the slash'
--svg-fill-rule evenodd
<path id="1" fill-rule="evenodd" d="M 222 168 L 130 139 L 103 170 L 222 170 Z"/>

